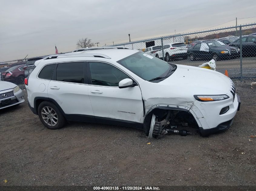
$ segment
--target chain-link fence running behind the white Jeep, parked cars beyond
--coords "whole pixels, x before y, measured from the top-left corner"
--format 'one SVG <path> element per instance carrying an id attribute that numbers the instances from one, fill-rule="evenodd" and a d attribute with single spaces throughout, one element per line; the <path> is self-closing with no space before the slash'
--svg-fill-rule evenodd
<path id="1" fill-rule="evenodd" d="M 175 34 L 114 46 L 128 46 L 167 62 L 196 67 L 213 59 L 216 71 L 225 73 L 227 70 L 233 80 L 255 81 L 256 79 L 255 23 Z M 24 79 L 33 70 L 35 61 L 45 56 L 0 63 L 0 80 L 25 88 Z M 204 66 L 204 68 L 209 67 Z"/>

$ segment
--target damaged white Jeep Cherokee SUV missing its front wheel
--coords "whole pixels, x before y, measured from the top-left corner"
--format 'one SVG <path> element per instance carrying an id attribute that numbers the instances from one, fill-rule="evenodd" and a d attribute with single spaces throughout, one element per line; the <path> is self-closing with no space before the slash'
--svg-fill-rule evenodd
<path id="1" fill-rule="evenodd" d="M 96 122 L 144 129 L 151 138 L 186 123 L 208 135 L 228 129 L 240 107 L 227 76 L 127 47 L 52 55 L 35 66 L 25 79 L 28 104 L 49 129 Z"/>

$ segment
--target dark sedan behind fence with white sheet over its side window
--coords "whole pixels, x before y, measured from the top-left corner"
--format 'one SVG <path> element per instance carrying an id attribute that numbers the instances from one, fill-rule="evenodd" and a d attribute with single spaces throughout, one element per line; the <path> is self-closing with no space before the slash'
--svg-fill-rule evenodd
<path id="1" fill-rule="evenodd" d="M 225 45 L 217 40 L 209 40 L 201 43 L 196 43 L 188 49 L 188 56 L 191 61 L 196 59 L 229 59 L 240 56 L 240 49 Z"/>

